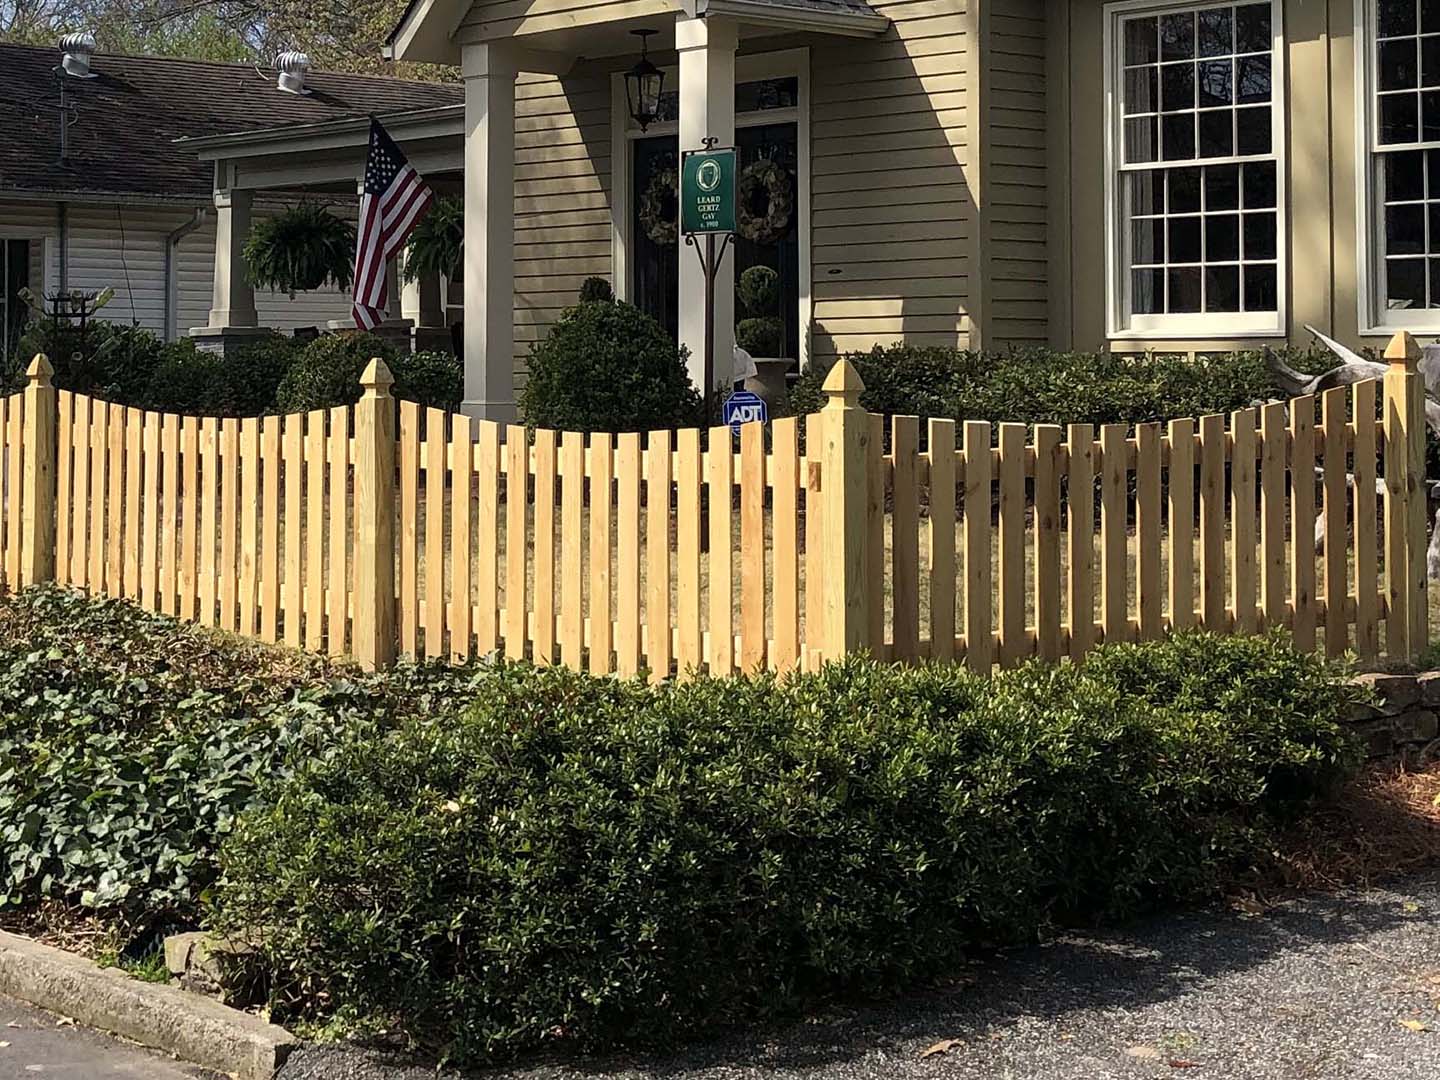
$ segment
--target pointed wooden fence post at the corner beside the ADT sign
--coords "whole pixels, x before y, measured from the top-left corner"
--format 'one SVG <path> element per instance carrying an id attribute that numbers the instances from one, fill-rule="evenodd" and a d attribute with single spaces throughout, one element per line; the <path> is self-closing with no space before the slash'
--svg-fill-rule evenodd
<path id="1" fill-rule="evenodd" d="M 825 377 L 825 408 L 819 412 L 819 507 L 822 557 L 806 567 L 806 588 L 821 590 L 819 626 L 806 634 L 819 660 L 876 648 L 870 641 L 870 605 L 884 603 L 883 582 L 868 576 L 865 510 L 870 497 L 870 413 L 860 408 L 865 384 L 848 360 Z"/>

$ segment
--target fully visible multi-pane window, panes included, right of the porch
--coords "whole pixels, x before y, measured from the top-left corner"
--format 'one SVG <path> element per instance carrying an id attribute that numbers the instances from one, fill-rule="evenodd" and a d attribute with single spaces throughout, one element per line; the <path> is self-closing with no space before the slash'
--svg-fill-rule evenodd
<path id="1" fill-rule="evenodd" d="M 1270 3 L 1116 9 L 1112 333 L 1277 333 L 1280 102 Z"/>

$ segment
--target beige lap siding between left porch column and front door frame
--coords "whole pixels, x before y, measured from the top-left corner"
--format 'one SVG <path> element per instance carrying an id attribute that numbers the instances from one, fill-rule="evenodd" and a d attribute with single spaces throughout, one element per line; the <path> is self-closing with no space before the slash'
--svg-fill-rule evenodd
<path id="1" fill-rule="evenodd" d="M 580 66 L 516 86 L 516 372 L 531 343 L 611 275 L 611 81 Z"/>

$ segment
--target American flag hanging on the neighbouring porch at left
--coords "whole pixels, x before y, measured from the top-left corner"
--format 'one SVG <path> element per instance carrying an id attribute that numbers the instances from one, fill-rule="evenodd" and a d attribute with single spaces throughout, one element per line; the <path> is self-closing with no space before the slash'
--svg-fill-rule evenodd
<path id="1" fill-rule="evenodd" d="M 364 193 L 360 196 L 351 310 L 356 325 L 361 330 L 374 330 L 387 314 L 386 259 L 400 249 L 433 197 L 435 193 L 410 168 L 380 121 L 370 117 L 370 153 L 364 163 Z"/>

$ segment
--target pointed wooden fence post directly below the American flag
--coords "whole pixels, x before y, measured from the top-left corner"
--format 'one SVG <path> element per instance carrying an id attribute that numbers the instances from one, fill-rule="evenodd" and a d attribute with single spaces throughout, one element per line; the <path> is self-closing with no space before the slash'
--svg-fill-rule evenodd
<path id="1" fill-rule="evenodd" d="M 369 671 L 395 662 L 395 377 L 376 357 L 356 403 L 354 657 Z"/>

